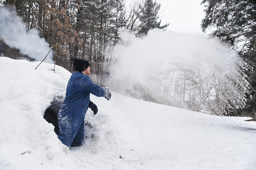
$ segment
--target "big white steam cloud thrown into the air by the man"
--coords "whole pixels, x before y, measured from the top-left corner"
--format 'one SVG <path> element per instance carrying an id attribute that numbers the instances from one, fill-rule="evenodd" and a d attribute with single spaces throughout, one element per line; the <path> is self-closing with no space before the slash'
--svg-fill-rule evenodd
<path id="1" fill-rule="evenodd" d="M 119 30 L 119 35 L 122 43 L 115 48 L 117 64 L 109 81 L 109 86 L 112 84 L 118 92 L 132 91 L 134 85 L 140 84 L 150 89 L 152 95 L 160 91 L 164 94 L 164 86 L 168 85 L 164 84 L 164 78 L 173 78 L 173 84 L 176 80 L 183 82 L 180 68 L 205 71 L 204 75 L 208 72 L 239 74 L 240 60 L 236 53 L 214 38 L 159 29 L 150 30 L 143 39 L 135 38 L 126 30 Z M 175 96 L 178 90 L 171 90 Z"/>

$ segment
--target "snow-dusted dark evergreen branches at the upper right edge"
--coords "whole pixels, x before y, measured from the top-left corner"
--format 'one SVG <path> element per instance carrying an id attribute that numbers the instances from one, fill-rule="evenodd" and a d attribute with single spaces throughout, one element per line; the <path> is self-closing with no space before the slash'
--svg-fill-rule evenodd
<path id="1" fill-rule="evenodd" d="M 238 54 L 251 66 L 246 70 L 247 79 L 252 86 L 247 93 L 246 107 L 238 113 L 253 113 L 256 121 L 256 1 L 254 0 L 203 0 L 205 18 L 202 30 L 220 40 L 228 42 Z"/>

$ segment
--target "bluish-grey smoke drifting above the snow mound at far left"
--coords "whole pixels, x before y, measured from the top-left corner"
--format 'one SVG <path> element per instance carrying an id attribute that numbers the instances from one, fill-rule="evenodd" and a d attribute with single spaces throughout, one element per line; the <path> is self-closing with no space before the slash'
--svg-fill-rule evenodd
<path id="1" fill-rule="evenodd" d="M 49 44 L 40 38 L 36 29 L 26 30 L 22 18 L 16 15 L 11 8 L 0 8 L 0 38 L 11 48 L 20 49 L 24 55 L 42 61 L 49 52 Z M 52 51 L 44 60 L 46 63 L 54 63 Z"/>

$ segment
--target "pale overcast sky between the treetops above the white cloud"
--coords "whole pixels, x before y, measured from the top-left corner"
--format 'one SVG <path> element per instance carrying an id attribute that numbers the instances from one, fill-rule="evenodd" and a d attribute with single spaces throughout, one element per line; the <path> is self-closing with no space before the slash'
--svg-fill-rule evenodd
<path id="1" fill-rule="evenodd" d="M 162 24 L 170 22 L 167 30 L 185 33 L 202 33 L 201 21 L 204 18 L 202 0 L 156 0 L 161 3 Z"/>

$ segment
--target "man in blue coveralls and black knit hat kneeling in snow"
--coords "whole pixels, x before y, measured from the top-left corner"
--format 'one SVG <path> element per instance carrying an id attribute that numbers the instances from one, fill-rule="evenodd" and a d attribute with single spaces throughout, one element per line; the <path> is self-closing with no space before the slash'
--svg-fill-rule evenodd
<path id="1" fill-rule="evenodd" d="M 60 141 L 71 146 L 81 146 L 84 143 L 84 117 L 88 107 L 95 115 L 98 108 L 90 101 L 90 93 L 109 100 L 111 93 L 108 88 L 102 88 L 92 82 L 90 76 L 89 62 L 83 59 L 74 61 L 74 72 L 72 73 L 66 91 L 66 98 L 58 114 L 59 131 L 57 133 Z"/>

